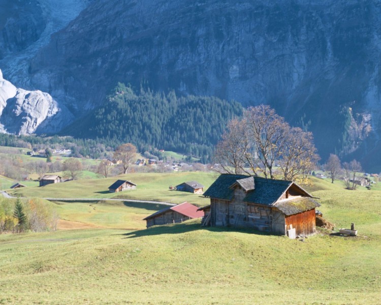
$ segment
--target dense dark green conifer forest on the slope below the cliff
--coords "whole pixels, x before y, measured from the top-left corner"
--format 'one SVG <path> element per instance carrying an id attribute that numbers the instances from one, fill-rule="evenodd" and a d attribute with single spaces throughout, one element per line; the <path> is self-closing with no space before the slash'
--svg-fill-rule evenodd
<path id="1" fill-rule="evenodd" d="M 211 156 L 227 122 L 242 115 L 242 106 L 215 97 L 177 97 L 119 83 L 105 103 L 62 135 L 102 139 L 105 143 L 131 142 L 187 155 Z"/>

